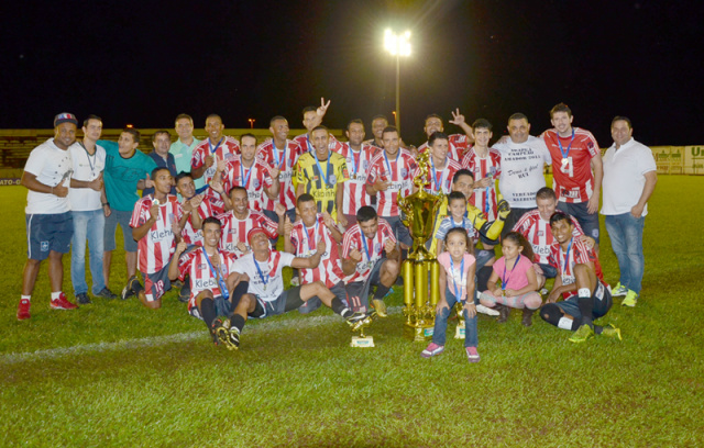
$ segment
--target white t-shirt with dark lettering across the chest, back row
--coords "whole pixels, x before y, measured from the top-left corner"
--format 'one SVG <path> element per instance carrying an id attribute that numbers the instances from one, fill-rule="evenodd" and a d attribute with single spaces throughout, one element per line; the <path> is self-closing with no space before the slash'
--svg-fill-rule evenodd
<path id="1" fill-rule="evenodd" d="M 551 165 L 550 152 L 542 138 L 532 135 L 524 143 L 497 143 L 502 155 L 502 173 L 498 189 L 508 205 L 517 209 L 535 209 L 536 193 L 546 186 L 542 175 L 544 164 Z"/>

